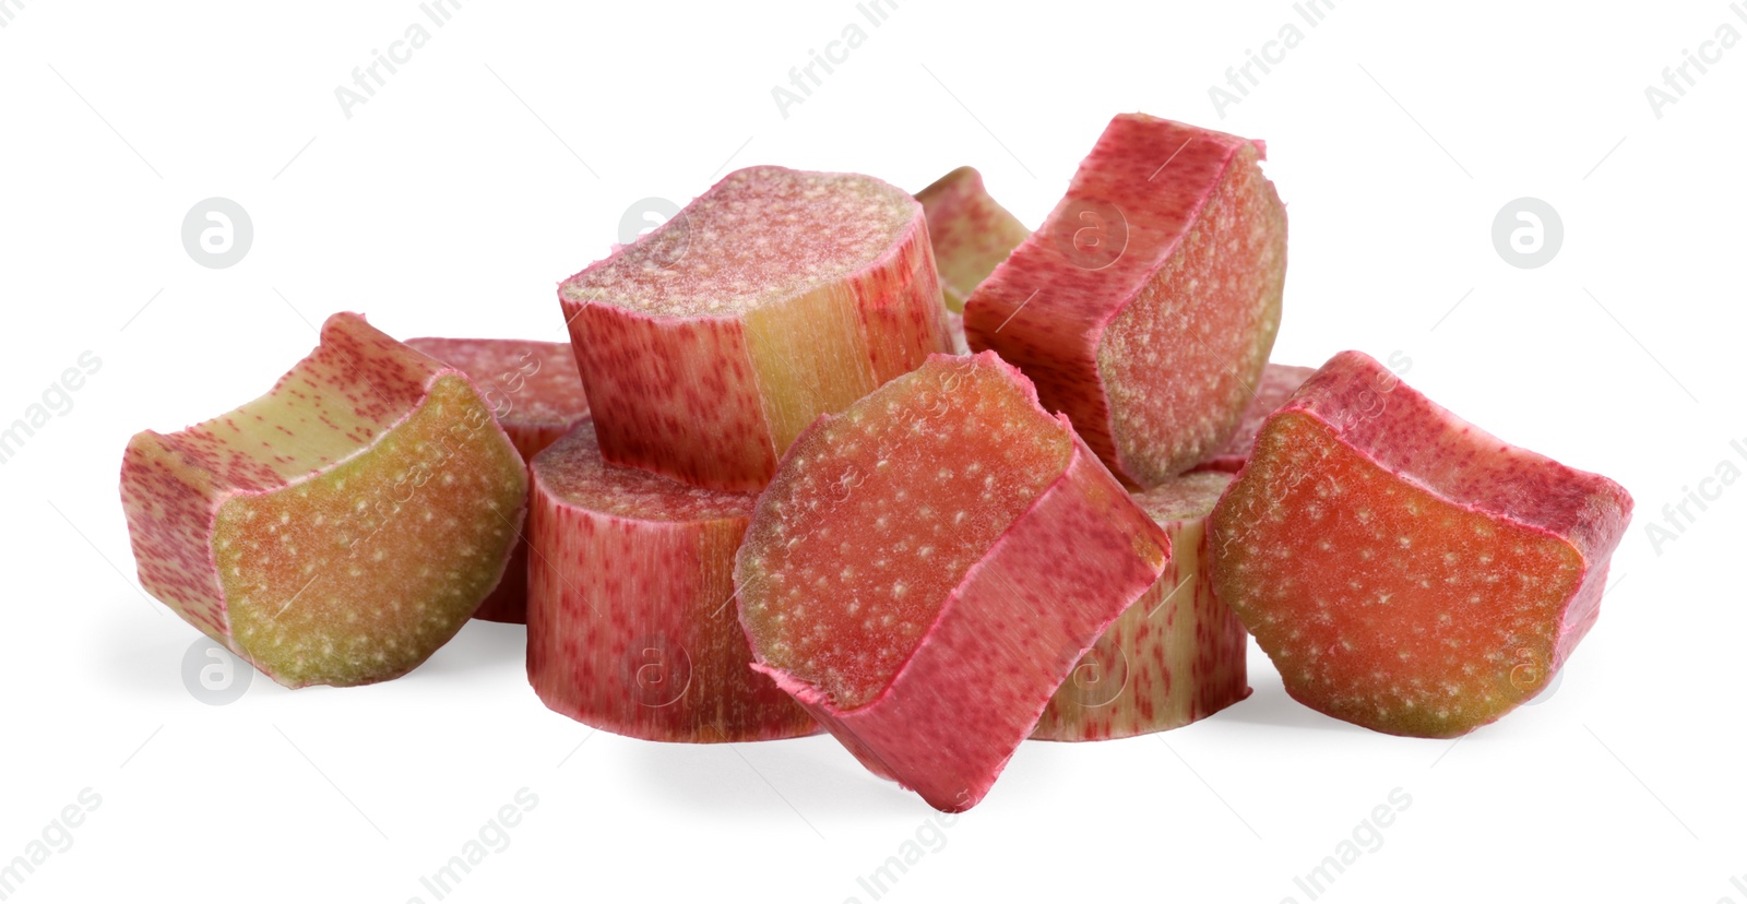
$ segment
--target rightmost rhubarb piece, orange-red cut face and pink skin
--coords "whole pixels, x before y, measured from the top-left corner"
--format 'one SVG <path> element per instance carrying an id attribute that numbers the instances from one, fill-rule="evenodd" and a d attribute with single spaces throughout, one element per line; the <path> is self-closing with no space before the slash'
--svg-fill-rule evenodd
<path id="1" fill-rule="evenodd" d="M 1214 588 L 1305 705 L 1448 738 L 1541 693 L 1595 623 L 1632 497 L 1331 358 L 1212 515 Z"/>

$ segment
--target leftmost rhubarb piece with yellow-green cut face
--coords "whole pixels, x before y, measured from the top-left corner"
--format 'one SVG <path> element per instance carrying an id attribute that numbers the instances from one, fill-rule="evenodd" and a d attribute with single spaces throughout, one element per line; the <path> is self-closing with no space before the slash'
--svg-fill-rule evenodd
<path id="1" fill-rule="evenodd" d="M 266 396 L 128 442 L 140 585 L 287 688 L 423 663 L 498 585 L 528 497 L 465 372 L 358 314 Z"/>

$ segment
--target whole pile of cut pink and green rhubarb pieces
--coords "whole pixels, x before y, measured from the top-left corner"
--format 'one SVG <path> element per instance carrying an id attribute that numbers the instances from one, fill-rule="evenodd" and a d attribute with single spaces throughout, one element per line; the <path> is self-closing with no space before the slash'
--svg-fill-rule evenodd
<path id="1" fill-rule="evenodd" d="M 142 585 L 274 681 L 355 686 L 468 618 L 660 742 L 830 731 L 942 810 L 1025 738 L 1249 696 L 1447 738 L 1543 691 L 1632 511 L 1357 353 L 1268 361 L 1265 148 L 1118 115 L 1029 232 L 755 166 L 559 286 L 570 344 L 334 314 L 262 398 L 143 431 Z"/>

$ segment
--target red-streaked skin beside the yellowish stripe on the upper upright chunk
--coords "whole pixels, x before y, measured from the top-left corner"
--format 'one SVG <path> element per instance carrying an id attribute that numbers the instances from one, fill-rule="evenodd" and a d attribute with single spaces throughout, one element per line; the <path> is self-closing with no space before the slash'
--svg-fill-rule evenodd
<path id="1" fill-rule="evenodd" d="M 620 253 L 624 250 L 613 257 Z M 908 373 L 928 354 L 950 351 L 940 279 L 919 204 L 903 237 L 842 283 L 854 300 L 865 356 L 790 360 L 784 373 L 760 372 L 748 318 L 786 316 L 793 321 L 786 330 L 805 337 L 823 328 L 807 321 L 809 309 L 784 314 L 777 302 L 748 316 L 680 318 L 580 304 L 561 290 L 559 304 L 589 391 L 601 454 L 613 464 L 699 487 L 760 490 L 786 449 L 770 422 L 772 396 L 805 394 L 807 386 L 821 382 L 814 373 L 825 370 L 839 380 L 856 382 L 854 398 L 860 398 Z"/>

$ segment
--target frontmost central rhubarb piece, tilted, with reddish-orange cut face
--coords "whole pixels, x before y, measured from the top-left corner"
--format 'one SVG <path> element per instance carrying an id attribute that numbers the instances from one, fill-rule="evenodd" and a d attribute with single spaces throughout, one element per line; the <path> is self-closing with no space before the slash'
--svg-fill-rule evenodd
<path id="1" fill-rule="evenodd" d="M 1067 419 L 985 353 L 933 356 L 807 429 L 735 579 L 753 667 L 874 773 L 957 812 L 1169 557 Z"/>

